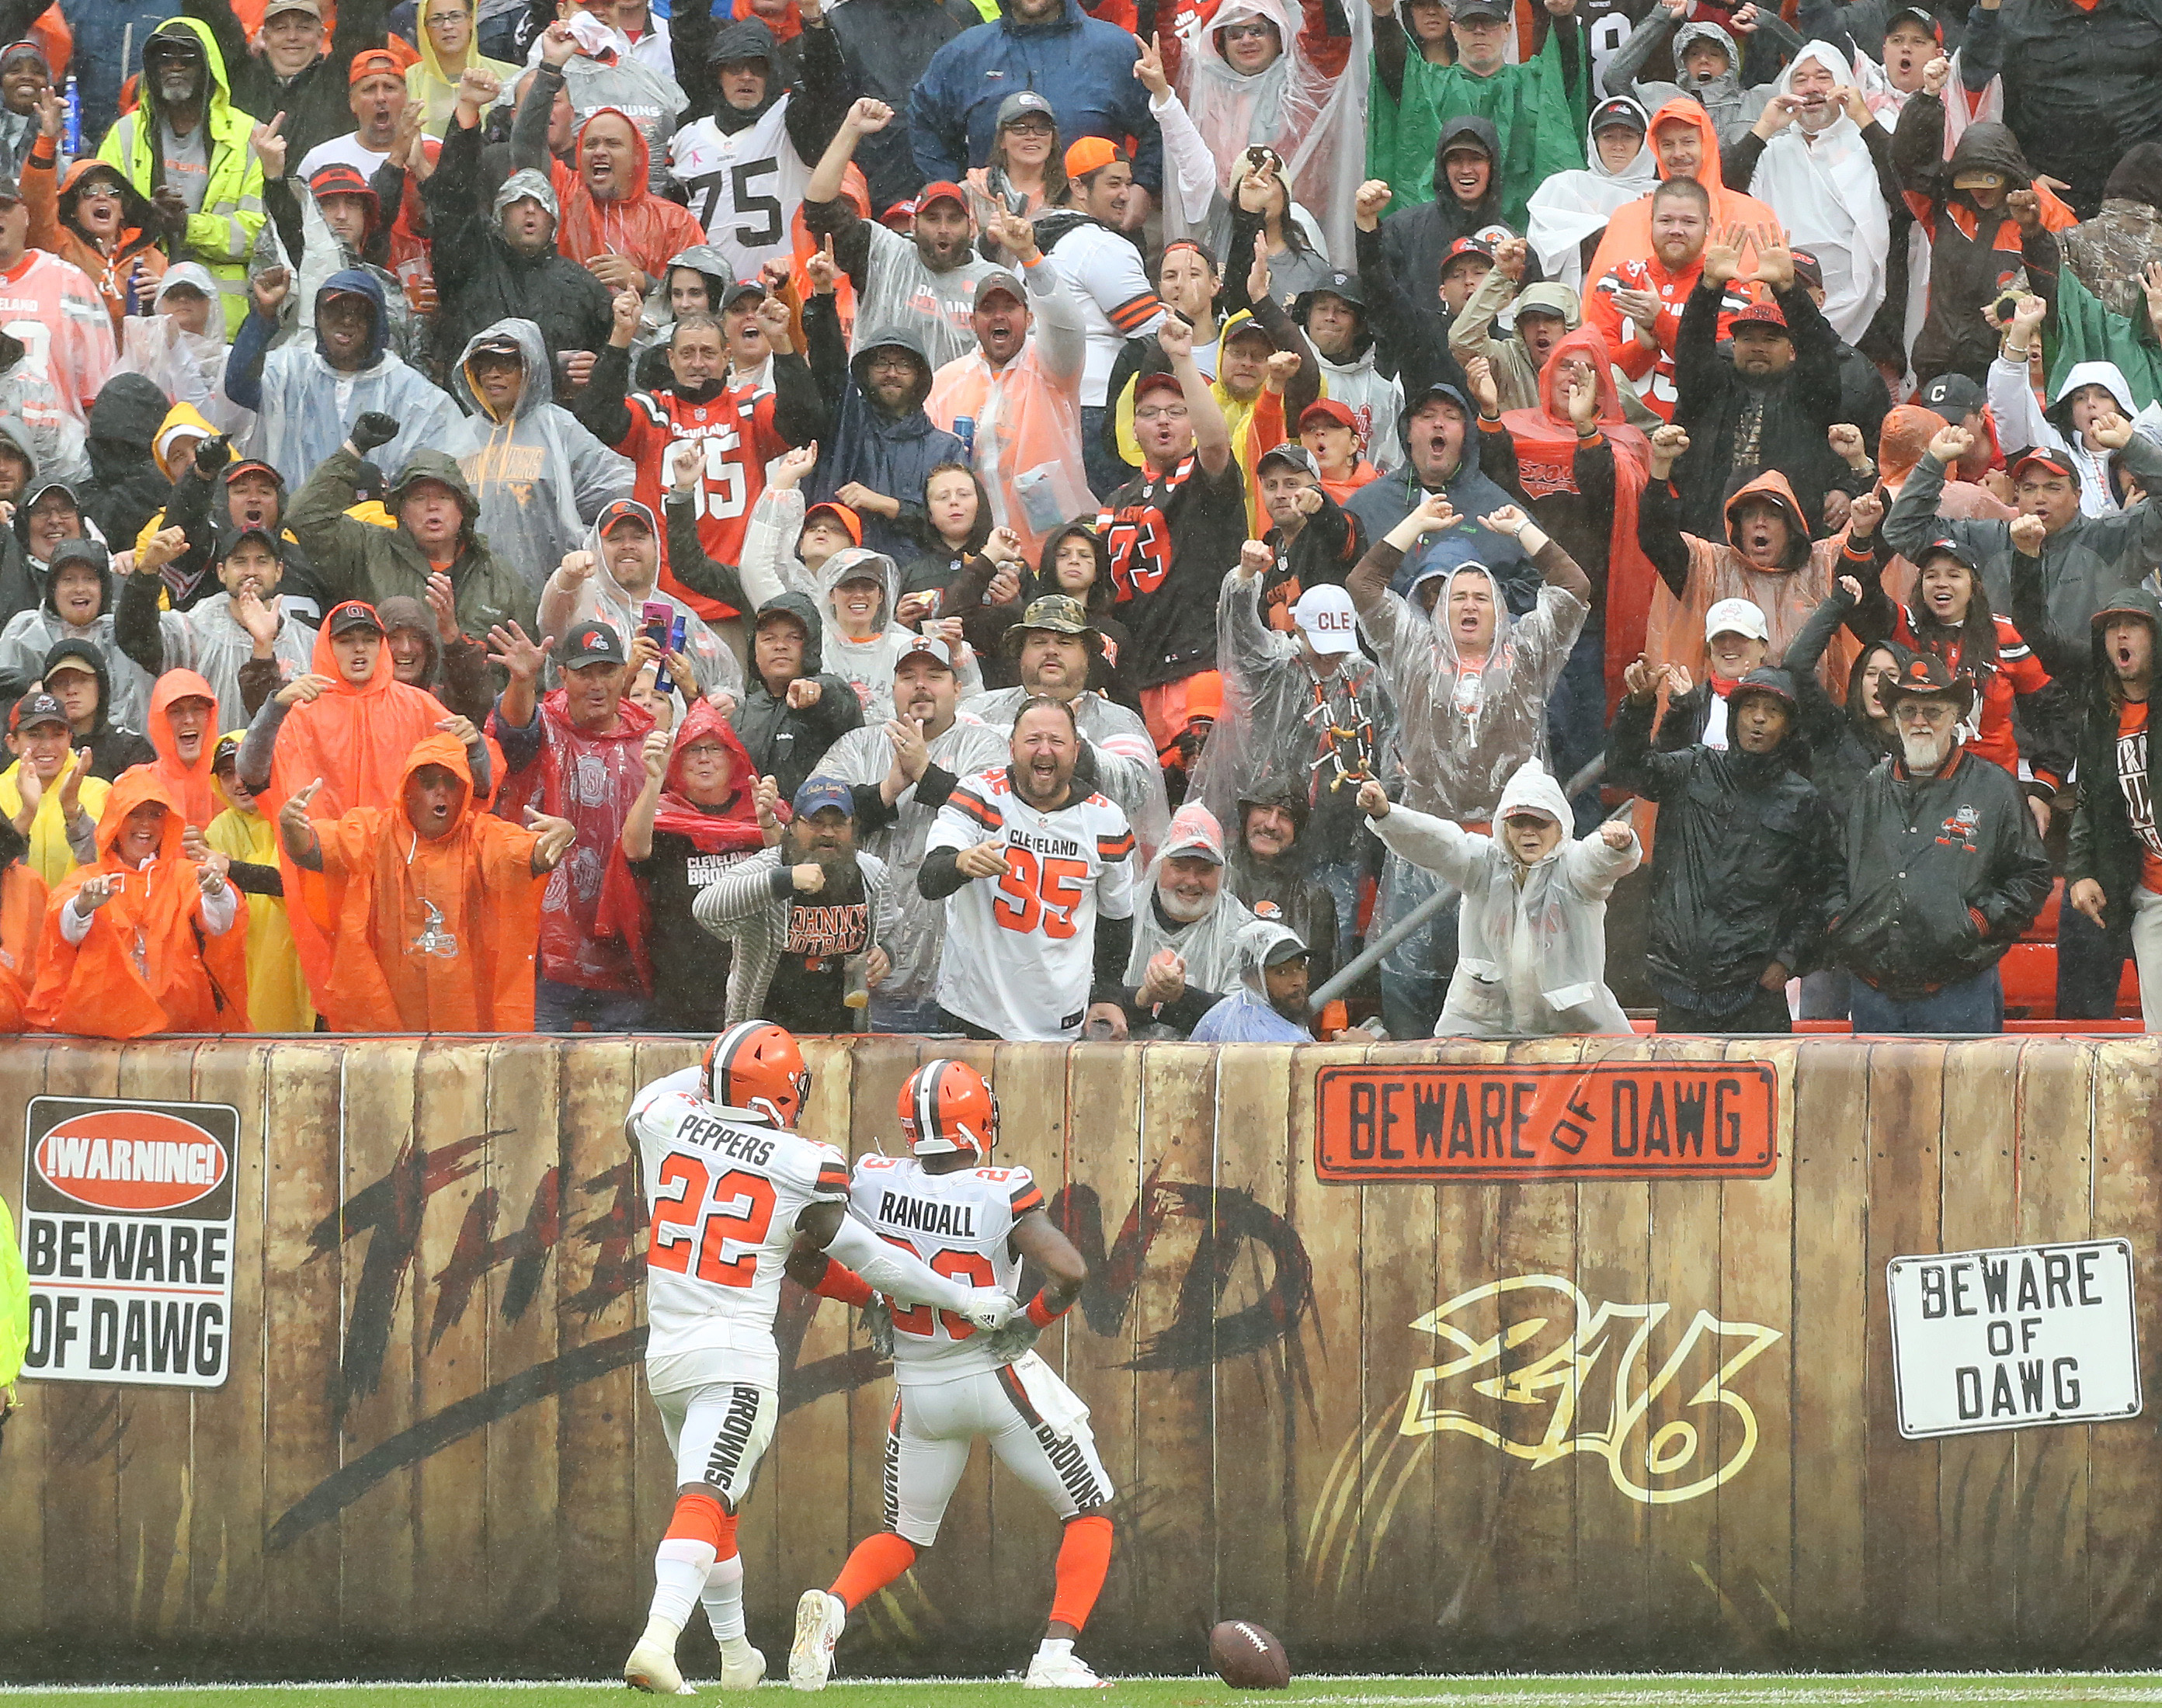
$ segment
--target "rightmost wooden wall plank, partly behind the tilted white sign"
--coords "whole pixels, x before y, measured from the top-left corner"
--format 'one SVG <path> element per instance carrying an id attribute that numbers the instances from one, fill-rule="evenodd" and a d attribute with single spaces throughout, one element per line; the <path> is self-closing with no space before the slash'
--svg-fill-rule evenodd
<path id="1" fill-rule="evenodd" d="M 2140 1315 L 2140 1392 L 2149 1416 L 2162 1397 L 2162 1245 L 2151 1237 L 2162 1178 L 2156 1170 L 2156 1046 L 2110 1040 L 2095 1049 L 2095 1237 L 2132 1241 L 2132 1297 Z M 2088 1647 L 2099 1665 L 2138 1656 L 2162 1619 L 2162 1436 L 2147 1418 L 2097 1425 L 2086 1496 Z"/>

